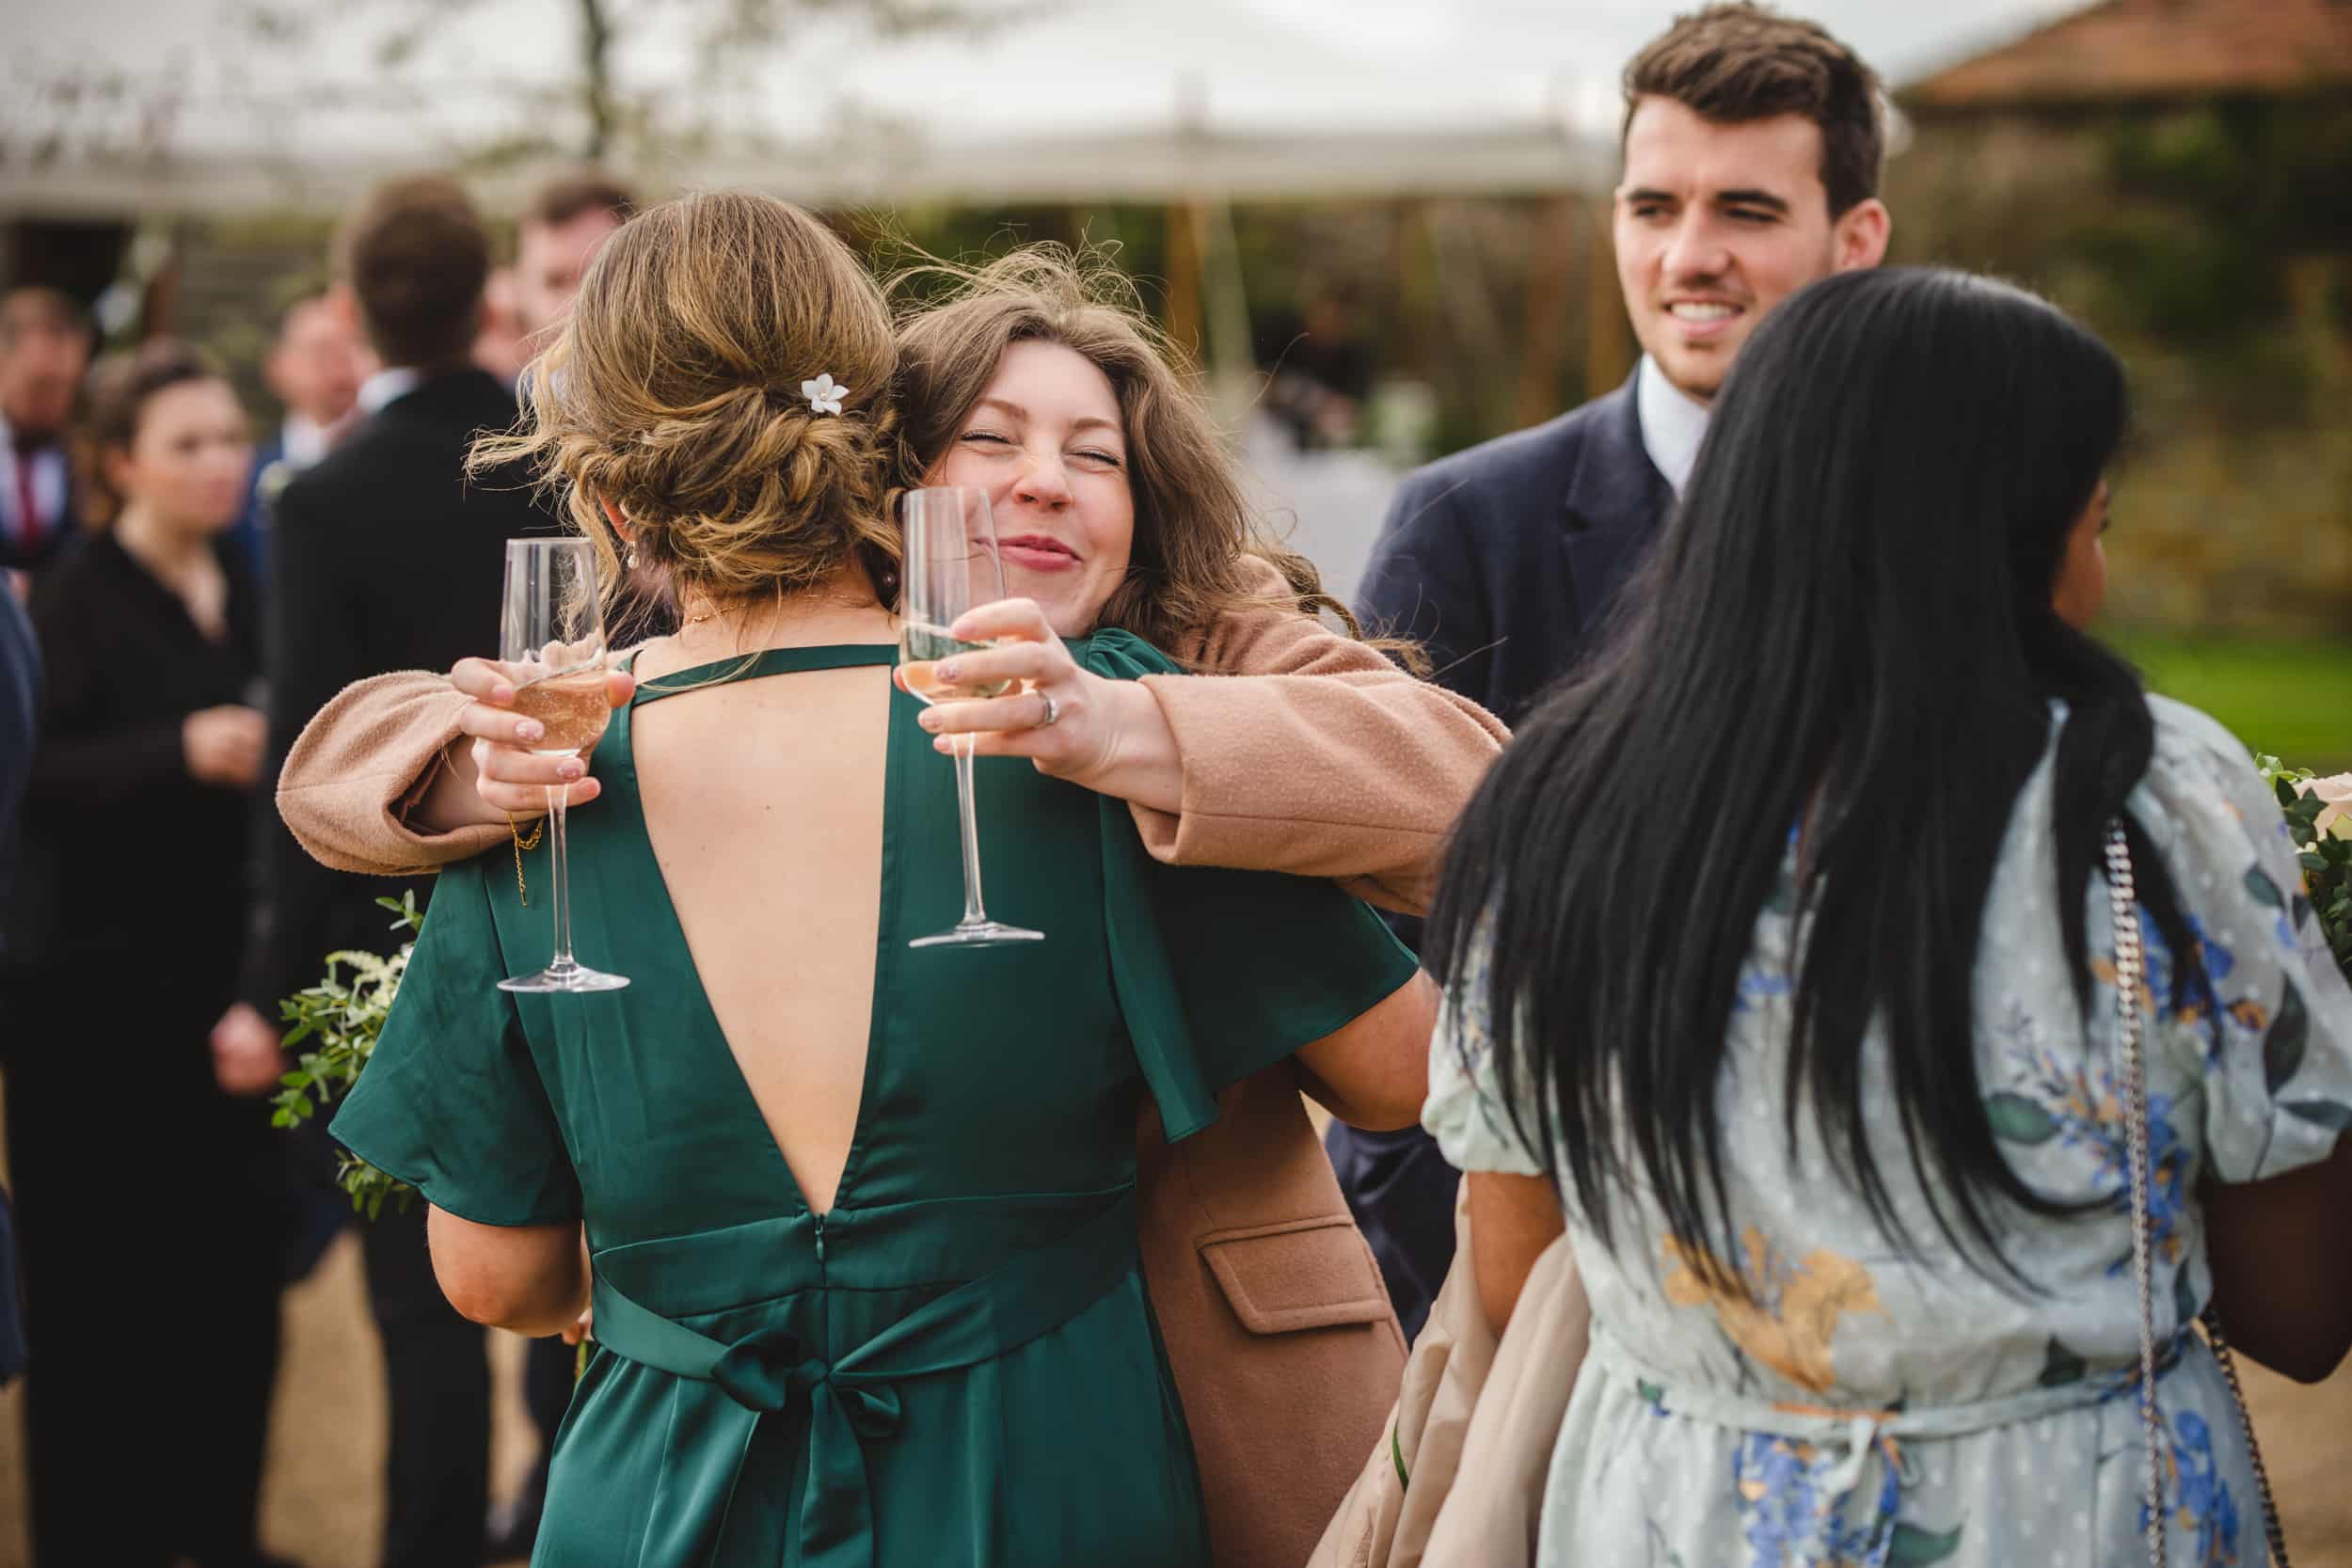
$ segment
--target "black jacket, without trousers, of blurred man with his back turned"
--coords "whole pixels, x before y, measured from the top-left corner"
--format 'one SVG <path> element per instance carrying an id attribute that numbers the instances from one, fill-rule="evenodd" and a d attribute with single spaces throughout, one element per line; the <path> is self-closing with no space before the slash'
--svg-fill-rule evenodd
<path id="1" fill-rule="evenodd" d="M 513 423 L 515 400 L 494 376 L 447 371 L 383 404 L 280 491 L 268 780 L 310 715 L 350 682 L 499 654 L 506 541 L 553 531 L 522 475 L 466 477 L 473 437 Z M 278 1018 L 278 999 L 315 985 L 336 947 L 390 952 L 400 938 L 374 900 L 416 889 L 423 903 L 428 884 L 332 872 L 273 820 L 245 999 Z"/>

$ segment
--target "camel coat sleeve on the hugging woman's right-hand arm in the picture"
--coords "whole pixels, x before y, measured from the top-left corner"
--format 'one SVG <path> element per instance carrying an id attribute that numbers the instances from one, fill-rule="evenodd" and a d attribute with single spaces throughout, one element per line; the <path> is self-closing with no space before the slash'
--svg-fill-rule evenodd
<path id="1" fill-rule="evenodd" d="M 1454 818 L 1510 731 L 1289 609 L 1282 576 L 1254 567 L 1265 607 L 1218 618 L 1178 654 L 1202 675 L 1143 682 L 1176 731 L 1183 811 L 1134 806 L 1136 830 L 1169 865 L 1334 877 L 1421 914 Z"/>

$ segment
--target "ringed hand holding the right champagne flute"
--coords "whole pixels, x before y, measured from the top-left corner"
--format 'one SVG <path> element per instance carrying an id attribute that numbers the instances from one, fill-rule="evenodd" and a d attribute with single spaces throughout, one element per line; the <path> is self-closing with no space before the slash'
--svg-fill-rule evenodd
<path id="1" fill-rule="evenodd" d="M 950 752 L 955 736 L 969 736 L 974 757 L 1025 757 L 1049 778 L 1157 811 L 1183 809 L 1176 731 L 1157 698 L 1141 682 L 1080 668 L 1035 599 L 978 604 L 950 630 L 960 642 L 995 646 L 938 661 L 936 679 L 955 686 L 1011 682 L 1011 689 L 927 708 L 922 726 L 936 736 L 936 750 Z M 903 668 L 896 679 L 906 686 Z"/>

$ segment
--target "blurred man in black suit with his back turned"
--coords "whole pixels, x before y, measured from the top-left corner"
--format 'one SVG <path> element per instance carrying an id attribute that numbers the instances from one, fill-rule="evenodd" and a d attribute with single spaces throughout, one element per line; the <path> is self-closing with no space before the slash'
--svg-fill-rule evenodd
<path id="1" fill-rule="evenodd" d="M 515 400 L 470 357 L 489 230 L 463 188 L 435 176 L 376 186 L 343 223 L 336 263 L 383 369 L 360 386 L 350 435 L 278 496 L 268 778 L 346 684 L 445 670 L 496 635 L 506 541 L 550 527 L 522 480 L 466 480 L 468 444 L 508 428 Z M 313 985 L 322 954 L 393 945 L 376 898 L 414 886 L 332 872 L 282 827 L 270 830 L 266 867 L 268 919 L 245 980 L 254 1051 L 263 1032 L 275 1044 L 263 1013 Z M 482 1328 L 433 1281 L 423 1206 L 386 1206 L 362 1246 L 390 1403 L 381 1563 L 475 1563 L 489 1507 Z"/>

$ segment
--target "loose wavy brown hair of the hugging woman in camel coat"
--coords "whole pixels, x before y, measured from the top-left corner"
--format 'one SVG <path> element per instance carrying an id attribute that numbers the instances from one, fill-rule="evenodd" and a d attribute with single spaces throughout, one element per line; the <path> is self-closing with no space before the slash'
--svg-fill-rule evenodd
<path id="1" fill-rule="evenodd" d="M 1256 555 L 1282 571 L 1301 611 L 1331 611 L 1357 635 L 1348 609 L 1322 590 L 1315 562 L 1261 529 L 1192 390 L 1190 362 L 1101 252 L 1030 244 L 978 268 L 924 263 L 891 289 L 938 282 L 948 284 L 943 301 L 901 308 L 901 484 L 922 484 L 948 454 L 1007 348 L 1058 343 L 1110 378 L 1127 428 L 1136 541 L 1098 625 L 1181 658 L 1218 616 L 1265 607 L 1242 569 L 1242 557 Z"/>

